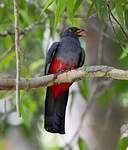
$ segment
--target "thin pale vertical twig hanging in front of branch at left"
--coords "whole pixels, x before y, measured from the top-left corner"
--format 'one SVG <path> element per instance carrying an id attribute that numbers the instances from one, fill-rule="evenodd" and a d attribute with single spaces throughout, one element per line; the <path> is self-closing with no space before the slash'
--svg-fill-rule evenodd
<path id="1" fill-rule="evenodd" d="M 19 12 L 18 0 L 14 0 L 14 17 L 15 17 L 15 51 L 16 51 L 16 109 L 19 117 L 20 114 L 20 35 L 19 35 Z"/>

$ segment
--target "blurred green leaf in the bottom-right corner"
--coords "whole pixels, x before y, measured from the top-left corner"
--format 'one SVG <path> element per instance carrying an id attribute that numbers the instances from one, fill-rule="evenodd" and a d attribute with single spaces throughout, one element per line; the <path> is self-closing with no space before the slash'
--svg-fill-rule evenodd
<path id="1" fill-rule="evenodd" d="M 120 138 L 118 142 L 117 150 L 126 150 L 128 147 L 128 138 Z"/>

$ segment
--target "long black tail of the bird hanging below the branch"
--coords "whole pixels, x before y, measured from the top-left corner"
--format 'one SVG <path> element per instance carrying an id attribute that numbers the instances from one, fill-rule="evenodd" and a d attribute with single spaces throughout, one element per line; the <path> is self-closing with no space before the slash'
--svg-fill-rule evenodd
<path id="1" fill-rule="evenodd" d="M 45 100 L 44 128 L 52 133 L 65 133 L 65 111 L 69 90 L 54 98 L 51 89 L 47 88 Z"/>

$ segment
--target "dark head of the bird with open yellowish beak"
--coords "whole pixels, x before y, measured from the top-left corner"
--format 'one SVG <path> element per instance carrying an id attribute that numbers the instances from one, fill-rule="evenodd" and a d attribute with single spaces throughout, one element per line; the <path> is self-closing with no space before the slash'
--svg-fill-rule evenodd
<path id="1" fill-rule="evenodd" d="M 85 37 L 86 31 L 77 27 L 70 27 L 64 31 L 62 36 Z"/>

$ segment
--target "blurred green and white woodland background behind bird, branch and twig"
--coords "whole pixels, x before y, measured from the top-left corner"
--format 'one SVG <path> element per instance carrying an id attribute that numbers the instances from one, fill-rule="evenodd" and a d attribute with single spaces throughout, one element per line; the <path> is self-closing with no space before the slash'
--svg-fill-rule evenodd
<path id="1" fill-rule="evenodd" d="M 128 68 L 128 0 L 22 0 L 18 5 L 22 77 L 43 74 L 49 46 L 69 26 L 87 30 L 81 39 L 85 65 Z M 13 33 L 13 1 L 0 0 L 1 78 L 16 74 Z M 73 84 L 66 135 L 44 131 L 45 89 L 21 91 L 22 118 L 17 117 L 15 91 L 0 91 L 0 150 L 128 149 L 127 81 L 82 79 Z"/>

